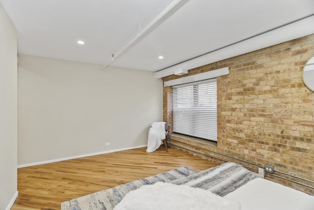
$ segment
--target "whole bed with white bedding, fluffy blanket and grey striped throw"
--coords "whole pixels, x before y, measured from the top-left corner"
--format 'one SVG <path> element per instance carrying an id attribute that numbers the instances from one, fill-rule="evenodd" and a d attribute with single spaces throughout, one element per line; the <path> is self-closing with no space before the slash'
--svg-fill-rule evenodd
<path id="1" fill-rule="evenodd" d="M 213 193 L 212 193 L 213 192 Z M 114 210 L 314 210 L 314 196 L 265 180 L 232 162 L 142 186 Z"/>

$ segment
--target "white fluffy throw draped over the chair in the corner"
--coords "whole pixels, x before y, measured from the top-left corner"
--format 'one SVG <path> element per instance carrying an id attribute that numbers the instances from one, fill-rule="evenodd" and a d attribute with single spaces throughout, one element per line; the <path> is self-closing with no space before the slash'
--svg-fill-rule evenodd
<path id="1" fill-rule="evenodd" d="M 166 138 L 165 122 L 154 122 L 148 131 L 147 152 L 157 150 Z"/>

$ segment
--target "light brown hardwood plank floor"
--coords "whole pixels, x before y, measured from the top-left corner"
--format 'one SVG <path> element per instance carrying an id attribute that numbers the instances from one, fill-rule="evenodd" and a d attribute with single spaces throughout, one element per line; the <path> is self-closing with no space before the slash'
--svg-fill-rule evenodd
<path id="1" fill-rule="evenodd" d="M 161 146 L 151 153 L 140 148 L 20 168 L 11 210 L 59 210 L 64 201 L 182 166 L 199 172 L 217 165 Z"/>

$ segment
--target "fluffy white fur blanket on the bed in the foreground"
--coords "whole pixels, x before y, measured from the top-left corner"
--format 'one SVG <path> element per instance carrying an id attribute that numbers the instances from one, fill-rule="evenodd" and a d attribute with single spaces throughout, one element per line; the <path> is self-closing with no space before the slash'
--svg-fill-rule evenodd
<path id="1" fill-rule="evenodd" d="M 129 192 L 113 210 L 240 210 L 234 200 L 209 190 L 157 182 Z"/>

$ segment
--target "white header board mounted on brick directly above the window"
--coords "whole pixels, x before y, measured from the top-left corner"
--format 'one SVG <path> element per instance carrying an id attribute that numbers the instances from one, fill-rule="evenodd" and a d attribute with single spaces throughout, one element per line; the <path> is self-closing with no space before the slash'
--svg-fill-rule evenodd
<path id="1" fill-rule="evenodd" d="M 187 77 L 181 77 L 175 80 L 169 80 L 163 83 L 163 87 L 181 85 L 185 83 L 198 82 L 202 80 L 208 80 L 212 78 L 216 78 L 222 75 L 229 74 L 229 67 L 218 68 L 212 71 L 207 71 L 200 74 L 194 74 Z"/>

